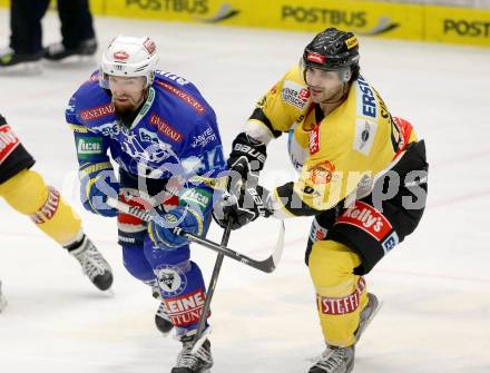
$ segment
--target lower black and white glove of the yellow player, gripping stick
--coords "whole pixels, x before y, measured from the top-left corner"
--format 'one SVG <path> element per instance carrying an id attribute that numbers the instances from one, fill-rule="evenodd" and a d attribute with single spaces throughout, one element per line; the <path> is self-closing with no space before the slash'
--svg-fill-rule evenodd
<path id="1" fill-rule="evenodd" d="M 238 229 L 257 217 L 270 217 L 272 209 L 271 194 L 256 187 L 242 188 L 239 196 L 225 193 L 213 210 L 215 222 L 223 228 L 232 222 L 232 229 Z"/>

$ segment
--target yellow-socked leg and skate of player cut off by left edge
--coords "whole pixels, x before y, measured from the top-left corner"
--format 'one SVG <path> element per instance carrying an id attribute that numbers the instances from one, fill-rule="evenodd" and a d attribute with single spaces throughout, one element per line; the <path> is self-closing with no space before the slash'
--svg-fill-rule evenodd
<path id="1" fill-rule="evenodd" d="M 94 285 L 101 291 L 108 289 L 112 284 L 110 266 L 85 235 L 79 216 L 59 192 L 47 186 L 42 176 L 30 169 L 33 164 L 32 156 L 0 115 L 0 196 L 63 246 L 80 263 Z M 0 283 L 0 311 L 4 305 Z"/>

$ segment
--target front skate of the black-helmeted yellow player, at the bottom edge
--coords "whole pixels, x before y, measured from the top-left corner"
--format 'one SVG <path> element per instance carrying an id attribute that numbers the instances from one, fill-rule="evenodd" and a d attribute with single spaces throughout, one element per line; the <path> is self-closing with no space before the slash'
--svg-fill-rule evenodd
<path id="1" fill-rule="evenodd" d="M 354 346 L 329 346 L 308 373 L 350 373 L 354 369 Z"/>

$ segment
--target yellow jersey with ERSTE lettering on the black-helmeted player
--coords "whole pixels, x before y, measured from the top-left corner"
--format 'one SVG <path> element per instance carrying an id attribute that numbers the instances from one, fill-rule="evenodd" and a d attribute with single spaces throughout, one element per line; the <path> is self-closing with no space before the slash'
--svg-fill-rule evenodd
<path id="1" fill-rule="evenodd" d="M 300 67 L 257 102 L 245 131 L 263 143 L 288 132 L 288 153 L 300 177 L 274 190 L 275 215 L 281 217 L 334 207 L 416 141 L 411 125 L 393 120 L 363 77 L 352 82 L 345 101 L 324 116 L 311 101 Z"/>

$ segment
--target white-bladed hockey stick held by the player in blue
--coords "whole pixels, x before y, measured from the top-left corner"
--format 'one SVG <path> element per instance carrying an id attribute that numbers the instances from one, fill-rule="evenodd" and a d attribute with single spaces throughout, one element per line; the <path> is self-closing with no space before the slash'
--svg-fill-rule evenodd
<path id="1" fill-rule="evenodd" d="M 110 207 L 114 207 L 118 209 L 119 212 L 128 215 L 136 216 L 140 218 L 144 222 L 155 222 L 159 224 L 160 226 L 165 226 L 163 223 L 161 216 L 159 216 L 155 210 L 145 210 L 143 208 L 130 206 L 121 200 L 117 200 L 115 198 L 107 198 L 107 205 Z M 204 247 L 210 248 L 212 251 L 215 251 L 219 254 L 223 254 L 224 256 L 231 257 L 234 261 L 238 261 L 247 266 L 251 266 L 255 269 L 265 272 L 265 273 L 272 273 L 277 267 L 278 262 L 281 261 L 281 257 L 283 255 L 283 248 L 284 248 L 284 222 L 281 220 L 281 229 L 277 237 L 277 242 L 274 246 L 273 253 L 264 261 L 256 261 L 253 259 L 246 255 L 239 254 L 228 247 L 222 246 L 213 241 L 193 235 L 192 233 L 185 232 L 183 228 L 175 227 L 171 228 L 174 234 L 183 236 L 187 238 L 190 242 L 194 242 L 196 244 L 199 244 Z"/>

